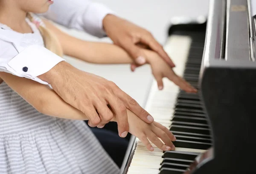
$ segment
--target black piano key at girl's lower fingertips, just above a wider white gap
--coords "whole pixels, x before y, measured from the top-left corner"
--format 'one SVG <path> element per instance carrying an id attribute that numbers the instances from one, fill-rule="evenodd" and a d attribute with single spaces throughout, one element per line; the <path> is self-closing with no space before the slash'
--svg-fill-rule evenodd
<path id="1" fill-rule="evenodd" d="M 202 149 L 202 150 L 207 150 L 212 146 L 211 143 L 193 142 L 193 141 L 186 141 L 186 140 L 179 140 L 179 139 L 177 139 L 175 142 L 172 142 L 172 143 L 177 148 L 193 148 L 193 149 Z"/>

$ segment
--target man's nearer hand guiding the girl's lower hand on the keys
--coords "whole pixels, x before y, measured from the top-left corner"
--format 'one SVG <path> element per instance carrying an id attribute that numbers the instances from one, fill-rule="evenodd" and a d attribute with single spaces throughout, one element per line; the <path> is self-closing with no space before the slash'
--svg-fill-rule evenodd
<path id="1" fill-rule="evenodd" d="M 153 117 L 116 86 L 112 81 L 76 69 L 67 62 L 60 62 L 47 73 L 38 76 L 51 84 L 53 90 L 67 103 L 81 110 L 89 119 L 91 127 L 102 128 L 113 119 L 113 109 L 118 123 L 119 136 L 129 131 L 127 111 L 131 110 L 146 123 Z"/>

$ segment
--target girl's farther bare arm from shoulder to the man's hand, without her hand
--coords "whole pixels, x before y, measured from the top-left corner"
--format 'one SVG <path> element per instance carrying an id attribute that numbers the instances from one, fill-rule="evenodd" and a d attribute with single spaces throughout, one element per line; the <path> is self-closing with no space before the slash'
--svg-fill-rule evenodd
<path id="1" fill-rule="evenodd" d="M 44 23 L 57 35 L 65 55 L 94 64 L 130 64 L 133 62 L 127 52 L 119 46 L 83 41 L 62 32 L 47 20 L 44 20 Z"/>

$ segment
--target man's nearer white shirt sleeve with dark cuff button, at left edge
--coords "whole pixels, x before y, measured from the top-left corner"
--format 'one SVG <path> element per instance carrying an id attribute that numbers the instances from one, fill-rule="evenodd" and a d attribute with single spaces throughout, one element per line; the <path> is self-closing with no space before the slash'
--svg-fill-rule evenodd
<path id="1" fill-rule="evenodd" d="M 0 48 L 0 71 L 29 78 L 41 84 L 48 83 L 38 78 L 38 75 L 47 73 L 56 64 L 65 61 L 39 45 L 28 46 L 18 53 L 12 43 L 0 40 Z"/>

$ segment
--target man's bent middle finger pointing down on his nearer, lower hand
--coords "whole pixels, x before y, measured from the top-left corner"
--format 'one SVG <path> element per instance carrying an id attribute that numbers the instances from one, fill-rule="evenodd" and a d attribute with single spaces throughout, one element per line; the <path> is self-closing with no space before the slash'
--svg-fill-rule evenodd
<path id="1" fill-rule="evenodd" d="M 108 99 L 108 103 L 116 114 L 119 136 L 124 138 L 129 131 L 127 109 L 122 104 L 122 101 L 115 96 L 112 99 Z"/>

